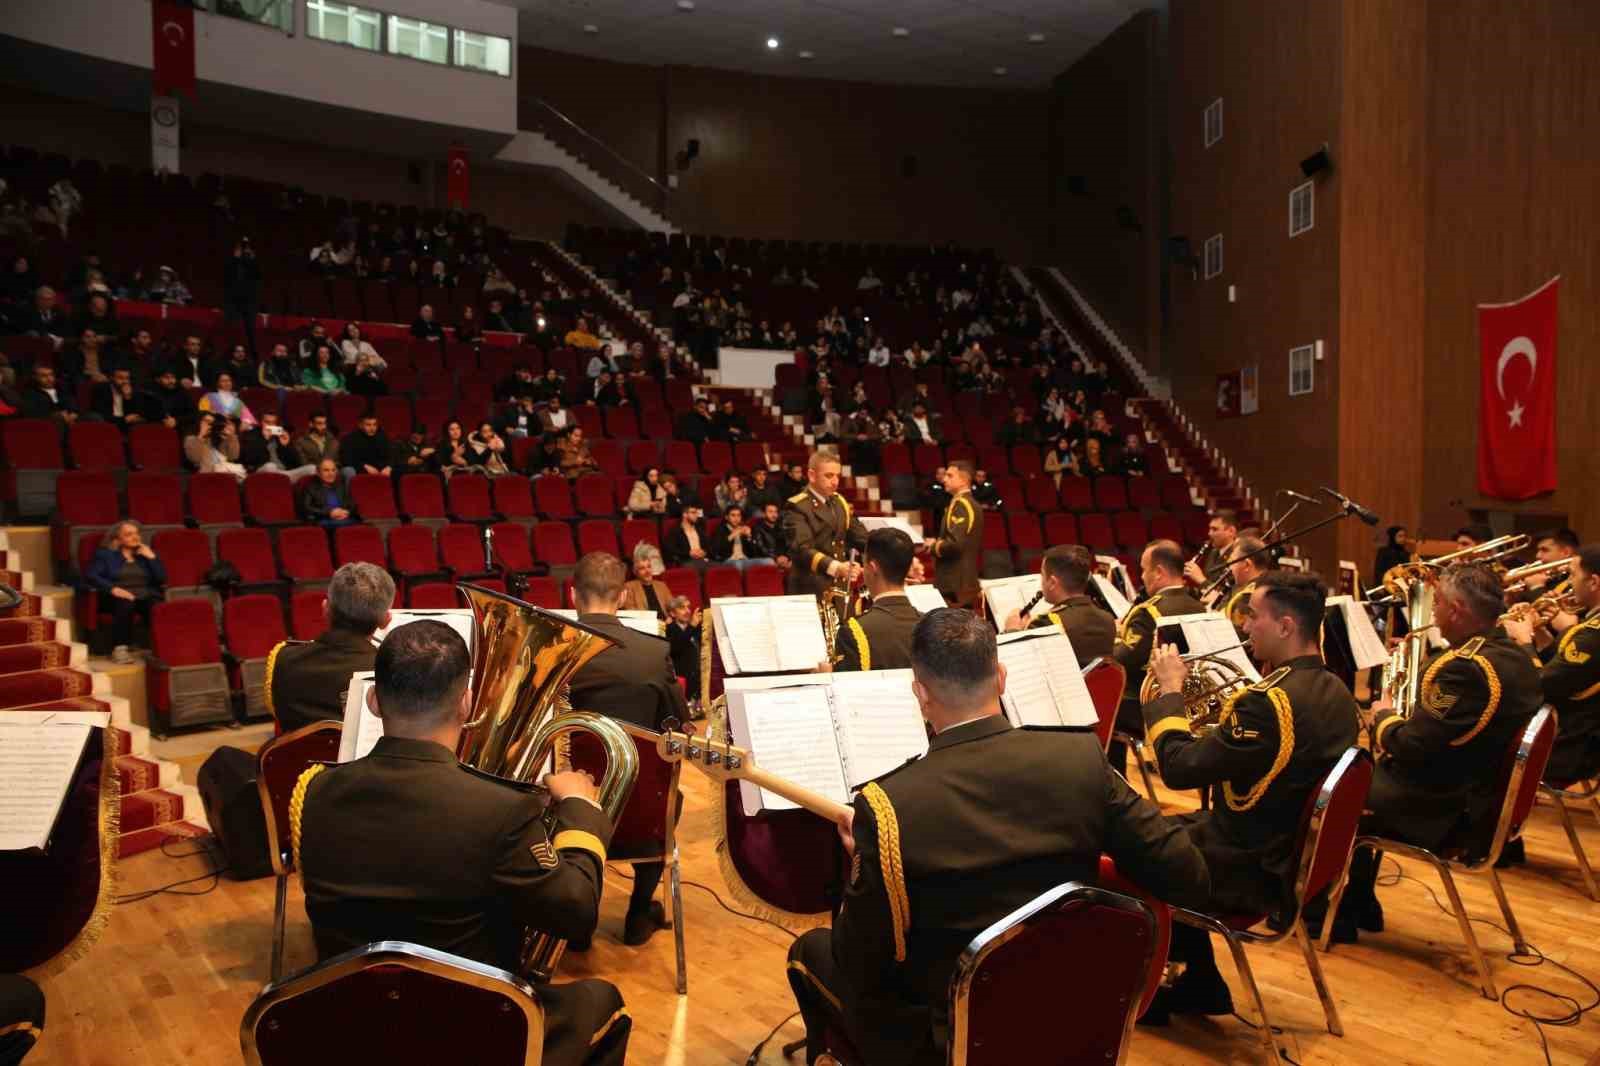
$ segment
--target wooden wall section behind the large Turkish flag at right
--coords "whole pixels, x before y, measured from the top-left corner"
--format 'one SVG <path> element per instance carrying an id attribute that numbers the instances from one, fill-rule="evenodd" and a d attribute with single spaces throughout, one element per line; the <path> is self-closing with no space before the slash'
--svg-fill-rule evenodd
<path id="1" fill-rule="evenodd" d="M 1600 539 L 1600 5 L 1429 11 L 1427 415 L 1422 522 L 1469 509 L 1568 515 Z M 1558 477 L 1520 504 L 1477 495 L 1475 304 L 1562 275 Z"/>

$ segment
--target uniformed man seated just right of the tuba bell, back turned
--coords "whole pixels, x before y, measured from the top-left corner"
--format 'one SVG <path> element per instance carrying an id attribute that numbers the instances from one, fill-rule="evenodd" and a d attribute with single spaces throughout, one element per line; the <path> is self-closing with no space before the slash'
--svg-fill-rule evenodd
<path id="1" fill-rule="evenodd" d="M 610 552 L 589 552 L 573 570 L 578 621 L 603 632 L 614 647 L 578 667 L 570 683 L 570 701 L 579 711 L 595 711 L 659 733 L 667 719 L 688 722 L 688 704 L 672 669 L 667 639 L 629 629 L 616 616 L 626 579 L 622 560 Z M 634 895 L 622 920 L 624 944 L 637 948 L 658 928 L 667 928 L 666 909 L 654 901 L 664 869 L 662 863 L 634 863 Z M 571 946 L 582 951 L 587 940 Z"/>

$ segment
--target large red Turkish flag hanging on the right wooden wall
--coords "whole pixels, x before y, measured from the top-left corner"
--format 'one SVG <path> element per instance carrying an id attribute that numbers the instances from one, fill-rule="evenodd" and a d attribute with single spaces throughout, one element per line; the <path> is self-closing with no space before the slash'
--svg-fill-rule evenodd
<path id="1" fill-rule="evenodd" d="M 1555 333 L 1560 277 L 1512 304 L 1478 304 L 1478 491 L 1555 490 Z"/>

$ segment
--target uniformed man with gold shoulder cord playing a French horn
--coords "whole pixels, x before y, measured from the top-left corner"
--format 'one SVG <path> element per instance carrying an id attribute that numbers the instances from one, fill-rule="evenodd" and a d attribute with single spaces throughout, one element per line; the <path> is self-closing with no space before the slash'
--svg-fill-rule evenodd
<path id="1" fill-rule="evenodd" d="M 1254 583 L 1248 635 L 1270 672 L 1230 698 L 1213 730 L 1189 727 L 1187 666 L 1178 648 L 1162 645 L 1150 656 L 1162 695 L 1144 704 L 1144 723 L 1162 779 L 1174 789 L 1211 789 L 1210 810 L 1178 820 L 1211 871 L 1203 911 L 1286 917 L 1306 800 L 1355 744 L 1355 698 L 1323 669 L 1317 650 L 1326 599 L 1317 575 L 1269 573 Z M 1234 1012 L 1205 930 L 1174 922 L 1171 957 L 1187 968 L 1157 994 L 1144 1024 L 1163 1024 L 1170 1013 Z"/>

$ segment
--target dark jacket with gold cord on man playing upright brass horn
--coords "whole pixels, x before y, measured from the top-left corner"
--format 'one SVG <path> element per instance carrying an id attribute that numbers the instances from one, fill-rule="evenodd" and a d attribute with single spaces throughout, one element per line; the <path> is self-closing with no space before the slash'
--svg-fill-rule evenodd
<path id="1" fill-rule="evenodd" d="M 1368 808 L 1386 832 L 1443 847 L 1499 799 L 1512 739 L 1544 699 L 1526 648 L 1504 629 L 1472 637 L 1422 667 L 1416 709 L 1381 711 L 1373 722 L 1378 773 Z"/>

